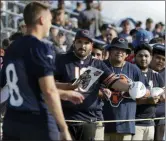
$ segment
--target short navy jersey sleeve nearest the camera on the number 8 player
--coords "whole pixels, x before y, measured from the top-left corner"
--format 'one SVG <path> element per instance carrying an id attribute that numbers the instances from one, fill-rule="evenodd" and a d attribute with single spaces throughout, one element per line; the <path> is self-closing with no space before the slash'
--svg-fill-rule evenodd
<path id="1" fill-rule="evenodd" d="M 32 60 L 32 71 L 40 78 L 44 76 L 54 75 L 55 52 L 51 45 L 38 43 L 30 50 Z"/>

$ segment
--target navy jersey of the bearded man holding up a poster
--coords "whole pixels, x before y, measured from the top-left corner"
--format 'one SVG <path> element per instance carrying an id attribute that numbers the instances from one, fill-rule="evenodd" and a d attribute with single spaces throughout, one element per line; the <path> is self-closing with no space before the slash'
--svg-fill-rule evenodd
<path id="1" fill-rule="evenodd" d="M 78 59 L 73 52 L 57 56 L 55 79 L 60 82 L 72 83 L 80 73 L 88 66 L 104 71 L 102 76 L 92 85 L 88 92 L 82 92 L 85 100 L 82 104 L 74 105 L 71 102 L 62 101 L 66 119 L 72 120 L 102 120 L 102 101 L 98 98 L 100 84 L 110 76 L 111 71 L 100 60 L 88 56 L 84 61 Z M 100 114 L 99 114 L 100 113 Z M 97 116 L 98 115 L 98 116 Z"/>

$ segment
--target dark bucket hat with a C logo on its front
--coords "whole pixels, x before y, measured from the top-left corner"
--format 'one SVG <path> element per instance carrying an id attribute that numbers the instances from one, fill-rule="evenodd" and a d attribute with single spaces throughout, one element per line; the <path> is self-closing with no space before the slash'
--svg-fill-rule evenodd
<path id="1" fill-rule="evenodd" d="M 128 54 L 131 53 L 131 49 L 128 47 L 128 41 L 125 38 L 115 37 L 106 49 L 110 50 L 113 47 L 125 49 Z"/>

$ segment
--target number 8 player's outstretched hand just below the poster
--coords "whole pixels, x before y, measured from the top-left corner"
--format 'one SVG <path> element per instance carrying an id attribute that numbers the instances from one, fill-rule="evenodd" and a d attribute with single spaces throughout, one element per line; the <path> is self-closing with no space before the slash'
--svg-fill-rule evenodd
<path id="1" fill-rule="evenodd" d="M 67 92 L 66 100 L 72 102 L 73 104 L 81 104 L 84 100 L 84 96 L 77 91 L 69 90 Z"/>

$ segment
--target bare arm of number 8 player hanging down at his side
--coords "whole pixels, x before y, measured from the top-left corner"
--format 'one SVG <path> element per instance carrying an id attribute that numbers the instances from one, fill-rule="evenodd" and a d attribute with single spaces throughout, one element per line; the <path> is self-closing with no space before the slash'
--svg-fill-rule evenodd
<path id="1" fill-rule="evenodd" d="M 55 81 L 53 76 L 45 76 L 39 78 L 40 89 L 44 94 L 44 99 L 48 105 L 49 110 L 56 119 L 61 132 L 68 130 L 65 118 L 62 112 L 60 96 L 58 90 L 55 86 Z"/>

